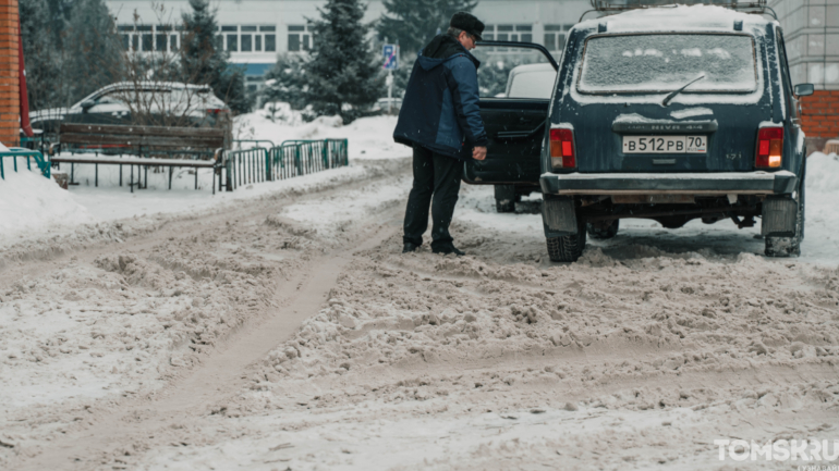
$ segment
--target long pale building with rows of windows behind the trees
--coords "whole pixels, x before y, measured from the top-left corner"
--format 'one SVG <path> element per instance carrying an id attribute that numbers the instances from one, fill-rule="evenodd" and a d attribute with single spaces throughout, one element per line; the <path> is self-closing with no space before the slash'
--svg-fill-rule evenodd
<path id="1" fill-rule="evenodd" d="M 277 54 L 312 48 L 309 18 L 324 0 L 221 0 L 218 8 L 220 46 L 231 62 L 245 67 L 248 89 L 257 90 Z M 131 51 L 174 52 L 180 46 L 180 17 L 189 1 L 107 0 L 117 18 L 123 47 Z M 474 13 L 487 25 L 486 39 L 536 41 L 550 51 L 564 46 L 566 33 L 591 5 L 586 0 L 482 0 Z M 368 2 L 365 22 L 380 17 L 381 1 Z M 499 48 L 494 53 L 513 53 Z"/>

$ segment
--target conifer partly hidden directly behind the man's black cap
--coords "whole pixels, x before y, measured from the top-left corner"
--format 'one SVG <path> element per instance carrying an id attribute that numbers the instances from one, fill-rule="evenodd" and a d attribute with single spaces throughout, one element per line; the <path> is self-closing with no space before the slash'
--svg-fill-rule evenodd
<path id="1" fill-rule="evenodd" d="M 437 32 L 449 28 L 457 12 L 471 12 L 477 0 L 384 0 L 387 13 L 376 26 L 380 38 L 399 42 L 402 53 L 416 54 Z"/>

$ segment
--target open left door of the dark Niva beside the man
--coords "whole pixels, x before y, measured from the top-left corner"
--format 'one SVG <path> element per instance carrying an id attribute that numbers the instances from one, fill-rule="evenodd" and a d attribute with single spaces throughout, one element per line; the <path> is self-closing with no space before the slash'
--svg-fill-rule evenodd
<path id="1" fill-rule="evenodd" d="M 463 181 L 496 185 L 498 211 L 511 212 L 520 195 L 539 188 L 539 154 L 559 65 L 542 45 L 511 41 L 476 45 L 478 48 L 532 49 L 542 52 L 548 61 L 513 69 L 506 97 L 481 97 L 481 117 L 489 140 L 487 158 L 467 160 Z"/>

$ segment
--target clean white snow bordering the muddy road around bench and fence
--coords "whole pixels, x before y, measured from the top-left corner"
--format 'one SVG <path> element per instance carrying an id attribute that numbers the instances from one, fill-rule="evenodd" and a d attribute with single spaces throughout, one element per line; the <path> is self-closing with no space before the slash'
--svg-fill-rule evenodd
<path id="1" fill-rule="evenodd" d="M 109 223 L 127 218 L 157 216 L 171 213 L 195 213 L 224 208 L 232 201 L 266 198 L 279 194 L 299 194 L 317 190 L 324 186 L 356 182 L 368 178 L 375 170 L 366 162 L 382 159 L 403 159 L 411 150 L 397 146 L 391 138 L 396 125 L 394 116 L 378 116 L 358 120 L 350 126 L 339 126 L 340 120 L 324 117 L 314 123 L 297 126 L 270 122 L 262 113 L 239 116 L 241 139 L 253 138 L 254 132 L 262 139 L 279 145 L 289 139 L 350 139 L 350 166 L 333 169 L 293 179 L 248 185 L 233 193 L 219 191 L 211 195 L 211 171 L 199 170 L 198 189 L 194 189 L 193 170 L 175 170 L 172 189 L 168 188 L 168 173 L 148 174 L 148 189 L 131 193 L 127 186 L 120 186 L 120 170 L 115 165 L 99 168 L 98 187 L 95 185 L 95 169 L 90 164 L 77 164 L 73 178 L 78 186 L 69 191 L 59 191 L 46 178 L 38 179 L 35 172 L 7 172 L 7 181 L 0 186 L 0 196 L 5 202 L 0 207 L 0 246 L 15 240 L 42 239 L 65 235 L 74 227 Z M 339 127 L 335 127 L 339 126 Z M 23 164 L 25 161 L 20 160 Z M 11 168 L 11 162 L 7 162 Z M 20 166 L 25 169 L 25 164 Z M 70 174 L 69 164 L 61 171 Z M 127 185 L 129 169 L 122 170 L 123 185 Z M 135 175 L 136 178 L 136 175 Z M 27 190 L 24 191 L 23 189 Z M 0 257 L 2 253 L 0 253 Z"/>

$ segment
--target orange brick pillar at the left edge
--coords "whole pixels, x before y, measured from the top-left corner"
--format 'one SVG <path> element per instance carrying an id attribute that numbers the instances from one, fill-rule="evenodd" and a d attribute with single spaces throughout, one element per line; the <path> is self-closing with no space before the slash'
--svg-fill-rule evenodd
<path id="1" fill-rule="evenodd" d="M 17 41 L 17 0 L 0 0 L 0 142 L 7 146 L 20 140 Z"/>

